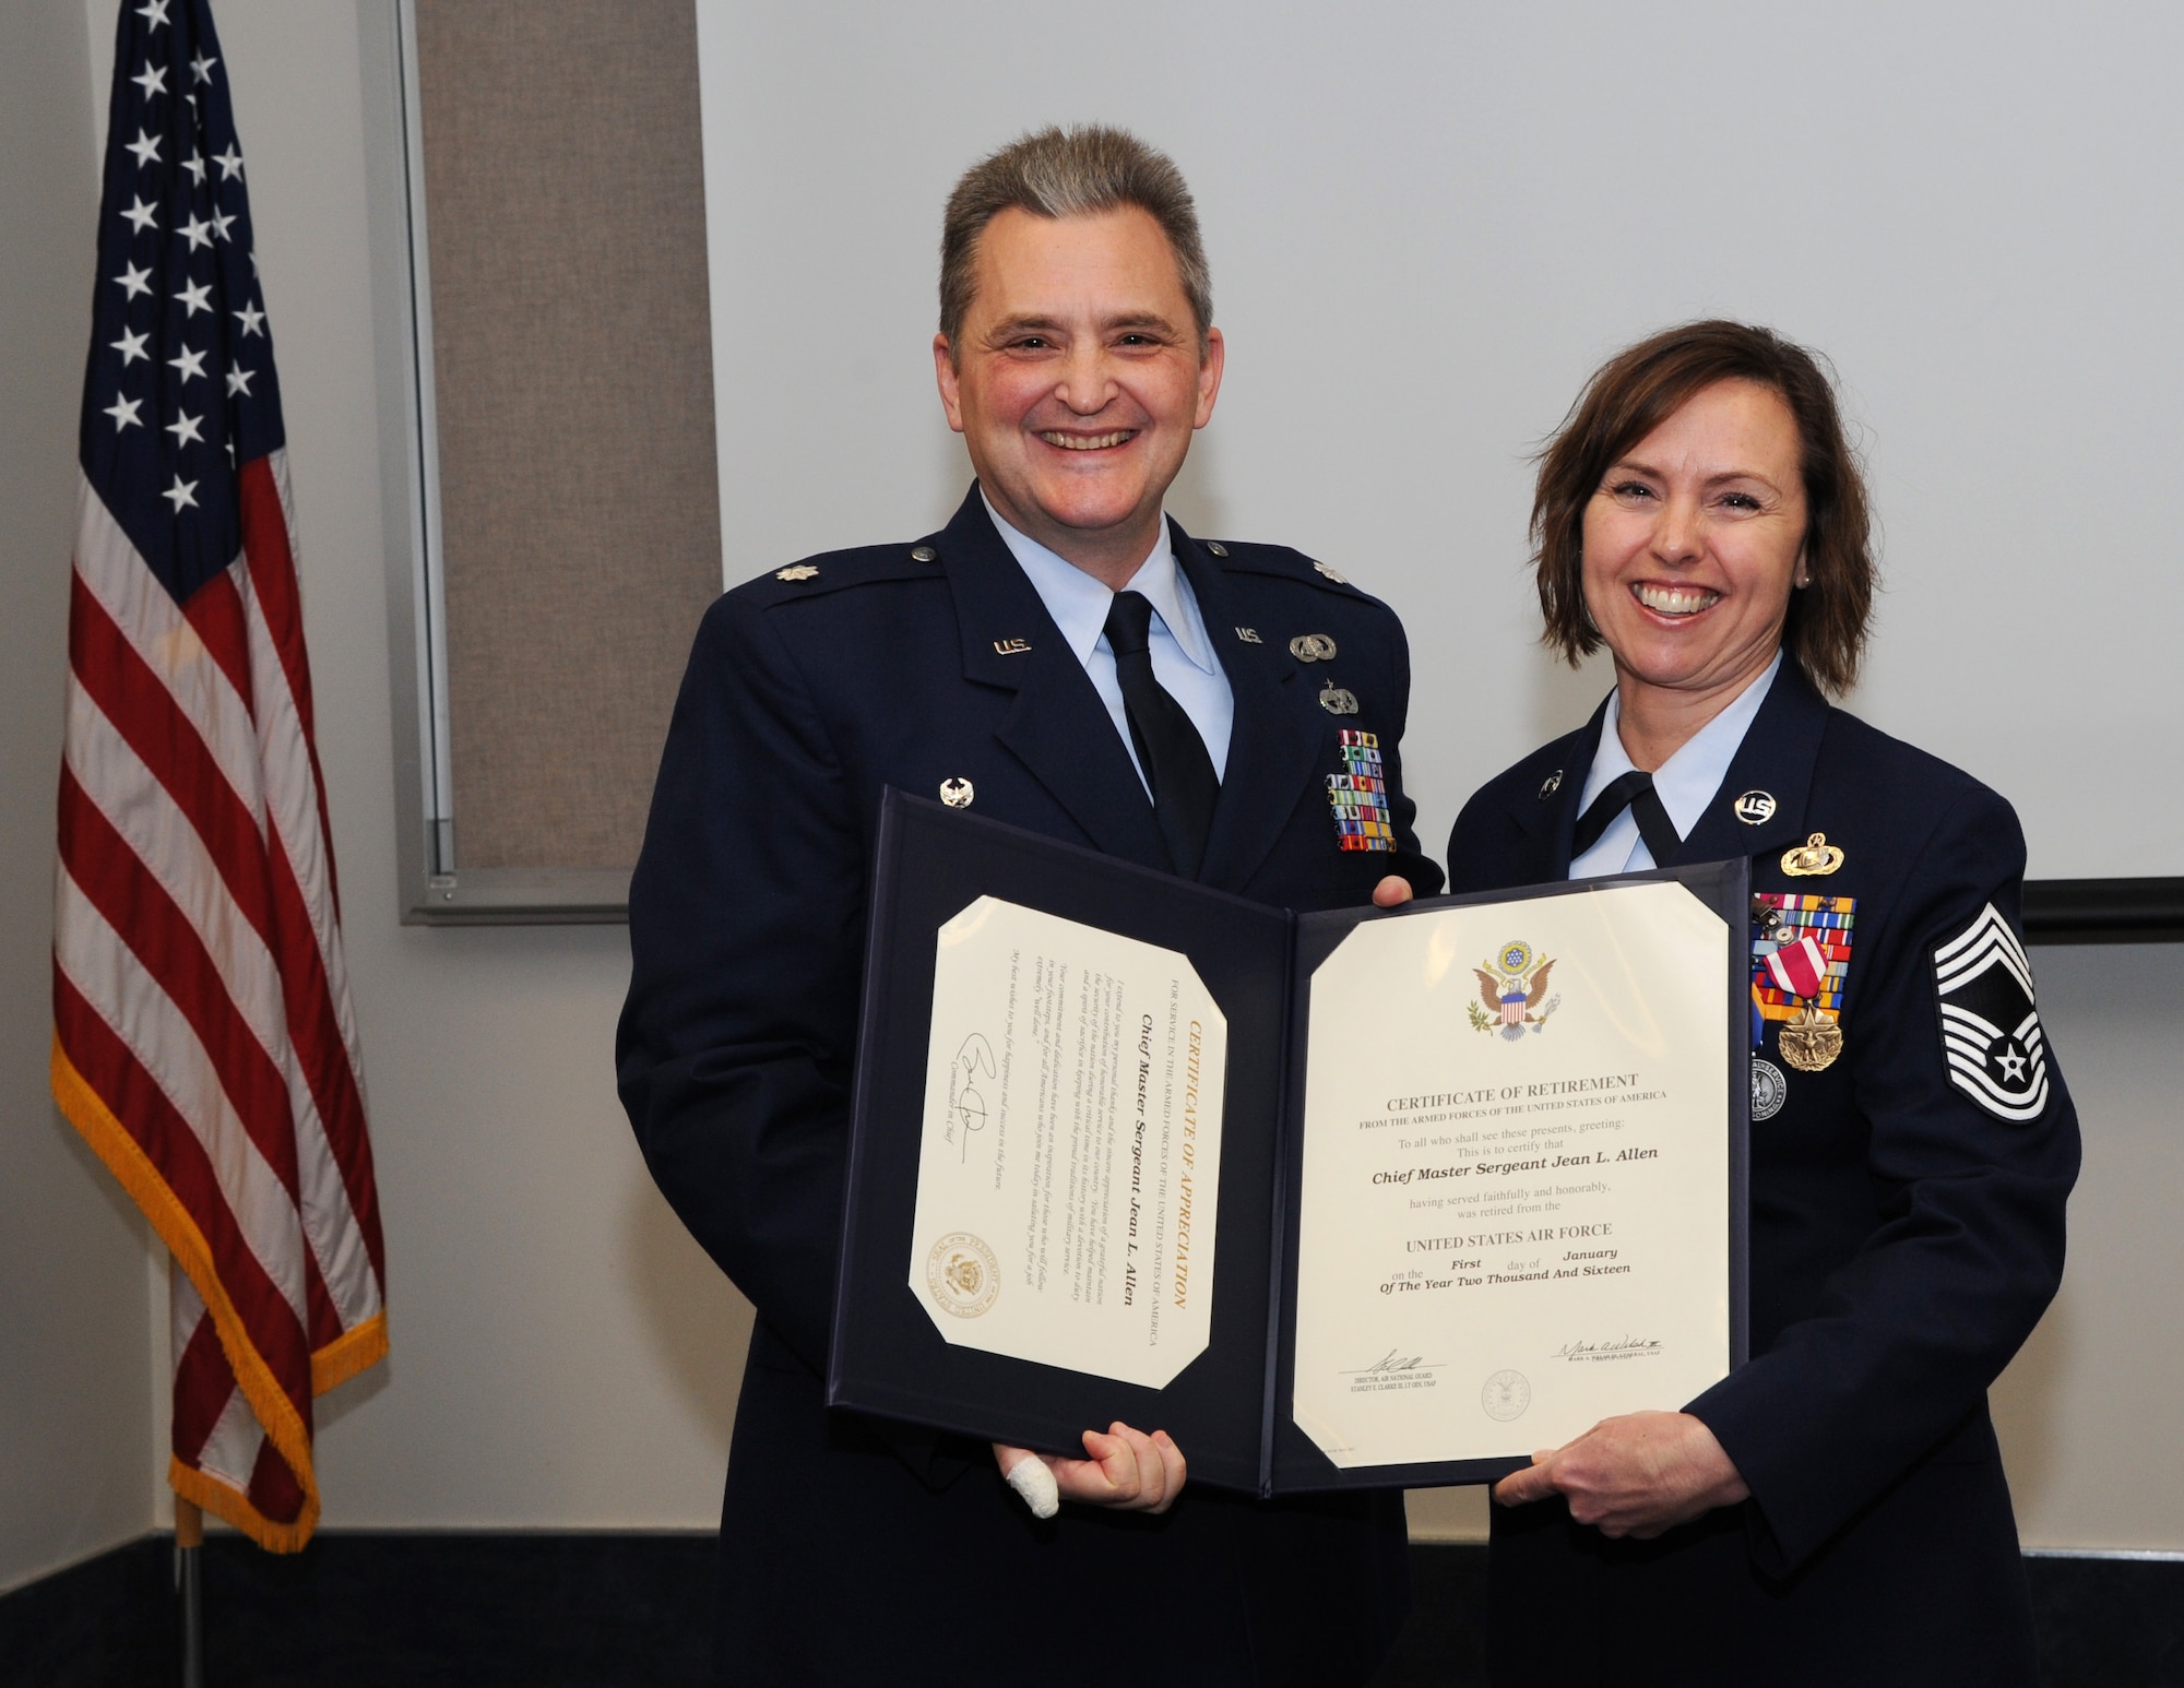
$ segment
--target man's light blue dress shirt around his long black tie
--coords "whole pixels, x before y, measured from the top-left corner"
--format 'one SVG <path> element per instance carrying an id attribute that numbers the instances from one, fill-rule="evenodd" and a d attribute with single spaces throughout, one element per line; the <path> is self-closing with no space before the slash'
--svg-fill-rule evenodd
<path id="1" fill-rule="evenodd" d="M 1144 780 L 1144 769 L 1138 764 L 1138 747 L 1129 738 L 1129 716 L 1123 710 L 1123 681 L 1114 673 L 1114 646 L 1107 644 L 1107 607 L 1114 603 L 1114 592 L 1077 568 L 1068 557 L 1055 555 L 1037 539 L 1002 522 L 983 491 L 978 500 L 985 502 L 985 513 L 994 520 L 994 531 L 1000 533 L 1002 544 L 1009 546 L 1009 555 L 1031 576 L 1031 587 L 1040 594 L 1040 603 L 1046 605 L 1046 614 L 1055 618 L 1055 627 L 1061 629 L 1070 653 L 1085 666 L 1092 690 L 1099 692 L 1101 703 L 1107 705 L 1107 714 L 1114 716 L 1114 729 L 1123 734 L 1123 749 L 1129 751 L 1129 762 L 1138 769 L 1138 780 L 1144 782 L 1144 795 L 1151 797 L 1153 784 Z M 1190 725 L 1206 740 L 1206 753 L 1212 758 L 1214 777 L 1219 780 L 1227 771 L 1227 740 L 1230 729 L 1236 725 L 1236 694 L 1230 692 L 1227 673 L 1221 668 L 1221 657 L 1214 655 L 1214 642 L 1206 635 L 1206 620 L 1199 616 L 1199 601 L 1190 592 L 1190 581 L 1175 561 L 1166 515 L 1160 518 L 1160 539 L 1153 544 L 1153 552 L 1138 563 L 1138 572 L 1129 576 L 1125 590 L 1142 594 L 1153 605 L 1149 638 L 1153 679 L 1166 688 L 1168 697 L 1184 705 Z"/>

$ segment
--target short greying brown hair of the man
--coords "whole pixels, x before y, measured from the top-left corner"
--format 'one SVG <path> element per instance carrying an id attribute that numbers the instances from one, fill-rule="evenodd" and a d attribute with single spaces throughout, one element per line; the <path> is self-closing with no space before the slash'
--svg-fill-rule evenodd
<path id="1" fill-rule="evenodd" d="M 950 349 L 976 290 L 978 236 L 1007 210 L 1033 216 L 1099 216 L 1133 205 L 1151 216 L 1175 253 L 1175 277 L 1199 319 L 1199 356 L 1214 321 L 1214 284 L 1199 238 L 1199 212 L 1175 159 L 1127 129 L 1046 127 L 972 164 L 941 218 L 941 334 Z"/>

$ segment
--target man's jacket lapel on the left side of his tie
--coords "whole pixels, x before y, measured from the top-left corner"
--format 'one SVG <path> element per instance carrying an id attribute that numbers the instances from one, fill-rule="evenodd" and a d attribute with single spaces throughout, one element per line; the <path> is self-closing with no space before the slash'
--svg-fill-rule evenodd
<path id="1" fill-rule="evenodd" d="M 933 546 L 954 594 L 965 679 L 1016 692 L 994 736 L 1105 854 L 1166 869 L 1168 847 L 1123 736 L 994 531 L 976 483 Z M 1009 649 L 1011 640 L 1031 649 Z"/>

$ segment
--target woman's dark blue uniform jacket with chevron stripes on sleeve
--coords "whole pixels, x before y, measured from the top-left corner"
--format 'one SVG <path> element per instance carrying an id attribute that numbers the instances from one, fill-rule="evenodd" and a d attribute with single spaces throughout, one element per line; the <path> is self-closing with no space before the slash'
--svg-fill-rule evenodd
<path id="1" fill-rule="evenodd" d="M 1603 714 L 1470 799 L 1450 889 L 1568 876 Z M 1773 812 L 1738 819 L 1745 793 Z M 1841 867 L 1793 878 L 1784 852 L 1813 832 Z M 1732 856 L 1756 893 L 1856 900 L 1839 1059 L 1800 1072 L 1765 1024 L 1787 1096 L 1752 1125 L 1752 1360 L 1688 1404 L 1752 1500 L 1655 1542 L 1607 1542 L 1559 1500 L 1496 1509 L 1494 1684 L 2029 1688 L 1985 1391 L 2062 1277 L 2077 1114 L 2011 996 L 2016 815 L 1784 662 L 1677 860 Z M 1946 1042 L 1944 1000 L 2005 1002 L 2009 1037 Z"/>

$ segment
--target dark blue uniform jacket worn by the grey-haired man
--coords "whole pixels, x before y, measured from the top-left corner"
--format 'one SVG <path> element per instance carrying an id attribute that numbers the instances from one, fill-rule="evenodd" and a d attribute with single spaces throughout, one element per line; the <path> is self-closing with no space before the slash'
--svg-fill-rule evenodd
<path id="1" fill-rule="evenodd" d="M 1363 904 L 1387 871 L 1437 891 L 1400 786 L 1396 616 L 1295 550 L 1173 542 L 1236 699 L 1199 878 L 1289 908 Z M 1334 657 L 1291 655 L 1302 633 Z M 1324 708 L 1330 683 L 1356 714 Z M 1393 852 L 1339 847 L 1343 727 L 1380 736 Z M 983 1446 L 821 1404 L 880 793 L 954 780 L 976 815 L 1166 867 L 1112 716 L 976 489 L 943 533 L 810 557 L 708 611 L 629 893 L 616 1059 L 653 1177 L 758 1308 L 721 1679 L 1361 1681 L 1409 1605 L 1400 1496 L 1188 1487 L 1164 1518 L 1037 1524 Z"/>

